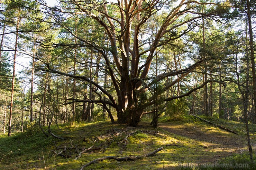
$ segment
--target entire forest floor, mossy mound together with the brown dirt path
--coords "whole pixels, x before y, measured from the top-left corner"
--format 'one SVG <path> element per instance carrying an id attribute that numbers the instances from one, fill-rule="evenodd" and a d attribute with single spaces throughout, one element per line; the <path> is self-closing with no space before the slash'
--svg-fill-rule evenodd
<path id="1" fill-rule="evenodd" d="M 214 118 L 208 120 L 216 121 Z M 159 147 L 163 150 L 153 157 L 135 161 L 104 160 L 84 169 L 193 169 L 204 164 L 248 161 L 245 125 L 225 120 L 219 120 L 218 124 L 238 135 L 192 116 L 161 122 L 158 128 L 144 121 L 136 128 L 110 122 L 52 126 L 54 134 L 64 137 L 61 140 L 46 138 L 39 129 L 32 127 L 12 137 L 0 136 L 0 169 L 78 170 L 97 158 L 139 156 Z M 250 131 L 256 131 L 256 126 L 250 126 Z M 251 137 L 255 150 L 254 134 Z M 74 160 L 84 148 L 90 147 Z"/>

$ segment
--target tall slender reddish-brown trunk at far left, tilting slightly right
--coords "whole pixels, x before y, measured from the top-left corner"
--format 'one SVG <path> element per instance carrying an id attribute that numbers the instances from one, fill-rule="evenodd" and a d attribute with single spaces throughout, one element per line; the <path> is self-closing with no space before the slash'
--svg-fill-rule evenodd
<path id="1" fill-rule="evenodd" d="M 15 51 L 14 51 L 14 56 L 13 56 L 13 72 L 12 72 L 12 84 L 11 84 L 11 102 L 10 102 L 10 118 L 9 118 L 9 126 L 8 126 L 8 136 L 11 136 L 13 95 L 14 95 L 14 85 L 15 85 L 15 66 L 16 66 L 18 38 L 19 38 L 19 32 L 18 32 L 19 31 L 19 22 L 20 22 L 20 17 L 18 17 L 17 25 L 16 25 L 16 39 L 15 39 Z"/>

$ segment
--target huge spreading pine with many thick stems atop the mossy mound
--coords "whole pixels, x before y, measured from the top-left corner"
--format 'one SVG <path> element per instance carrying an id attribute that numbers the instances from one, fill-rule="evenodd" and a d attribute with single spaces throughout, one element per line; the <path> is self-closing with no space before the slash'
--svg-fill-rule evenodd
<path id="1" fill-rule="evenodd" d="M 60 0 L 56 7 L 48 7 L 44 1 L 38 0 L 37 2 L 42 5 L 42 11 L 47 17 L 43 21 L 51 22 L 54 29 L 62 29 L 65 34 L 69 34 L 71 38 L 76 40 L 75 42 L 64 43 L 66 41 L 55 39 L 40 42 L 40 45 L 44 48 L 92 50 L 97 61 L 96 59 L 91 61 L 91 65 L 95 67 L 94 71 L 97 71 L 97 78 L 104 79 L 104 75 L 107 74 L 111 83 L 109 86 L 103 87 L 104 83 L 92 79 L 82 72 L 77 71 L 76 74 L 61 72 L 40 55 L 37 56 L 37 59 L 44 65 L 42 64 L 37 70 L 58 73 L 91 84 L 93 86 L 91 90 L 98 97 L 93 100 L 88 98 L 82 101 L 93 102 L 102 106 L 108 112 L 112 122 L 114 120 L 110 107 L 115 108 L 118 123 L 137 126 L 143 114 L 150 112 L 145 112 L 149 106 L 188 96 L 205 84 L 217 81 L 207 80 L 200 86 L 178 95 L 157 98 L 156 95 L 166 96 L 163 94 L 179 81 L 177 79 L 166 81 L 167 78 L 179 75 L 179 79 L 183 79 L 198 66 L 202 66 L 205 60 L 209 60 L 209 58 L 200 56 L 190 58 L 193 60 L 192 64 L 180 70 L 162 68 L 164 71 L 157 74 L 153 73 L 153 61 L 161 50 L 170 46 L 184 47 L 185 42 L 182 41 L 182 38 L 186 37 L 188 32 L 198 30 L 199 21 L 202 17 L 212 18 L 217 16 L 219 12 L 226 12 L 228 10 L 226 2 Z M 200 6 L 209 6 L 211 10 L 199 11 Z M 74 16 L 76 16 L 76 27 L 71 22 Z M 190 42 L 186 42 L 186 44 L 191 45 Z M 53 54 L 51 57 L 58 56 Z M 100 62 L 98 62 L 99 60 Z M 84 69 L 88 68 L 85 67 Z M 164 86 L 161 86 L 162 88 L 157 93 L 152 92 L 155 85 L 160 82 Z M 113 92 L 112 89 L 115 91 Z M 74 99 L 74 101 L 76 100 Z"/>

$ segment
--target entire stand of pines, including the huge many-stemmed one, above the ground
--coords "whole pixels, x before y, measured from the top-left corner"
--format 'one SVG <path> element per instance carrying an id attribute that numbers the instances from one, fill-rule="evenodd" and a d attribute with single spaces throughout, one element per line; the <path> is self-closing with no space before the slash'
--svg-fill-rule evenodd
<path id="1" fill-rule="evenodd" d="M 52 124 L 157 127 L 197 114 L 244 122 L 249 136 L 255 7 L 253 0 L 58 0 L 53 7 L 0 0 L 1 133 L 40 127 L 60 138 Z"/>

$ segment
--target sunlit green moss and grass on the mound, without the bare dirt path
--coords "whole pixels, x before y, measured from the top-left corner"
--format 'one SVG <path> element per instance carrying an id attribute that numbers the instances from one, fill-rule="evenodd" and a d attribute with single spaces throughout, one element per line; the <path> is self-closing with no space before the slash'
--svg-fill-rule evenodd
<path id="1" fill-rule="evenodd" d="M 244 124 L 236 122 L 228 122 L 221 120 L 230 129 L 241 128 L 240 134 L 243 132 Z M 172 126 L 180 129 L 182 133 L 187 133 L 186 128 L 198 129 L 202 134 L 219 134 L 225 137 L 232 137 L 237 140 L 237 136 L 232 133 L 225 132 L 219 128 L 213 127 L 207 123 L 201 122 L 194 117 L 185 117 L 183 120 L 172 121 L 165 123 L 165 126 Z M 60 130 L 56 126 L 52 126 L 52 131 L 58 136 L 65 136 L 68 139 L 58 140 L 53 137 L 45 138 L 42 132 L 33 134 L 32 136 L 25 133 L 17 133 L 12 137 L 6 135 L 0 136 L 0 169 L 45 169 L 48 170 L 73 170 L 80 169 L 83 164 L 86 164 L 94 159 L 105 156 L 137 156 L 149 153 L 159 147 L 164 147 L 154 157 L 147 157 L 139 161 L 115 161 L 104 160 L 103 162 L 95 163 L 87 169 L 168 169 L 175 167 L 178 164 L 186 164 L 190 162 L 195 164 L 203 160 L 205 157 L 212 158 L 222 152 L 217 148 L 214 142 L 203 141 L 202 139 L 193 139 L 189 136 L 181 134 L 173 134 L 161 128 L 152 128 L 149 122 L 140 122 L 137 128 L 127 128 L 127 125 L 111 124 L 110 122 L 94 122 L 82 124 L 60 124 Z M 250 126 L 256 129 L 256 126 Z M 127 142 L 119 143 L 127 134 L 132 131 Z M 29 132 L 32 133 L 32 132 Z M 56 145 L 71 147 L 70 140 L 73 146 L 79 148 L 89 148 L 94 146 L 96 149 L 82 154 L 81 158 L 74 160 L 77 153 L 72 150 L 73 158 L 63 158 L 53 155 L 51 150 L 56 150 Z M 171 144 L 166 146 L 166 144 Z M 208 148 L 208 146 L 210 146 Z M 211 147 L 212 146 L 212 147 Z M 216 149 L 214 149 L 216 148 Z M 225 148 L 224 148 L 225 149 Z M 242 148 L 243 149 L 243 148 Z M 246 148 L 245 148 L 246 149 Z M 44 154 L 44 156 L 43 156 Z M 238 158 L 230 158 L 239 161 Z M 226 160 L 231 161 L 231 160 Z M 240 161 L 242 162 L 242 161 Z M 190 164 L 191 165 L 191 164 Z M 190 168 L 193 168 L 192 166 Z"/>

